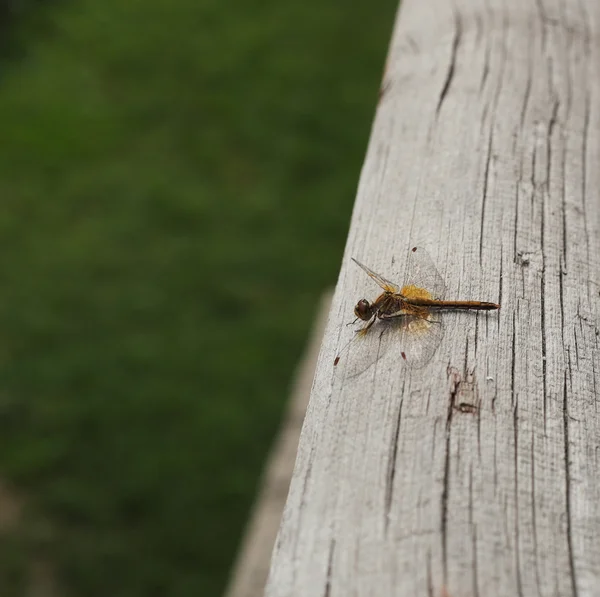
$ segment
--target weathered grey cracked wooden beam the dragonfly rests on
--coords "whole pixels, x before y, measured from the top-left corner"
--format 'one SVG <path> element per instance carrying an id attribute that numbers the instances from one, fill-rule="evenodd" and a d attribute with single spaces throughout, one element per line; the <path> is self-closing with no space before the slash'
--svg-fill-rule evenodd
<path id="1" fill-rule="evenodd" d="M 404 0 L 268 597 L 600 595 L 599 111 L 597 0 Z M 500 312 L 334 368 L 413 244 Z"/>

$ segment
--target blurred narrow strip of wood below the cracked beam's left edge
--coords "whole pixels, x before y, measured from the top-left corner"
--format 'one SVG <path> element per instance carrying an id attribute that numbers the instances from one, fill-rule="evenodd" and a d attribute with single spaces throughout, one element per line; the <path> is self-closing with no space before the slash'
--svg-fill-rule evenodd
<path id="1" fill-rule="evenodd" d="M 300 429 L 308 406 L 308 397 L 330 307 L 331 292 L 327 292 L 321 300 L 311 337 L 298 366 L 288 411 L 267 462 L 261 488 L 250 515 L 225 597 L 261 597 L 264 594 L 271 553 L 292 478 Z M 2 486 L 0 485 L 0 503 L 1 497 Z M 1 514 L 0 510 L 0 531 Z"/>

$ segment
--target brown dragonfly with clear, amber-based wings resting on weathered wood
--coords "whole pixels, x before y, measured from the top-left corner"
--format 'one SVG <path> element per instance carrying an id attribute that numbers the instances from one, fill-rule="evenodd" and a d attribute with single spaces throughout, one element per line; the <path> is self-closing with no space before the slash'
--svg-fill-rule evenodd
<path id="1" fill-rule="evenodd" d="M 484 301 L 445 300 L 446 285 L 433 261 L 420 247 L 413 247 L 408 254 L 404 284 L 390 282 L 360 261 L 352 261 L 373 279 L 383 292 L 372 302 L 360 299 L 354 307 L 357 321 L 367 325 L 356 331 L 355 336 L 334 360 L 337 365 L 354 341 L 366 336 L 378 322 L 382 328 L 380 339 L 397 342 L 400 355 L 407 366 L 424 366 L 437 350 L 444 328 L 440 317 L 443 310 L 492 311 L 500 305 Z M 378 326 L 379 327 L 379 326 Z"/>

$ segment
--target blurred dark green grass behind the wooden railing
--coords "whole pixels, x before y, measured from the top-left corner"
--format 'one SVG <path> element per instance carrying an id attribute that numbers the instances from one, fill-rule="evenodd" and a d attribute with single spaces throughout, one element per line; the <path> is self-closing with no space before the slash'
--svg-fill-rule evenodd
<path id="1" fill-rule="evenodd" d="M 221 595 L 396 6 L 3 1 L 2 597 Z"/>

